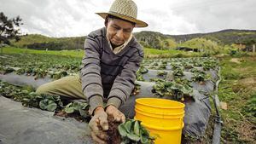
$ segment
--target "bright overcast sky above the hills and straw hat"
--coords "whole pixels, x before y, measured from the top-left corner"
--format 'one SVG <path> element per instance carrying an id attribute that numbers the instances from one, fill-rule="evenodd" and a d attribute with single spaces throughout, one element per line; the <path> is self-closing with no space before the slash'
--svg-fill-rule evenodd
<path id="1" fill-rule="evenodd" d="M 256 30 L 256 0 L 133 0 L 137 19 L 148 23 L 133 32 L 179 35 L 224 29 Z M 102 28 L 96 12 L 108 12 L 113 0 L 0 0 L 0 12 L 20 15 L 22 34 L 80 37 Z"/>

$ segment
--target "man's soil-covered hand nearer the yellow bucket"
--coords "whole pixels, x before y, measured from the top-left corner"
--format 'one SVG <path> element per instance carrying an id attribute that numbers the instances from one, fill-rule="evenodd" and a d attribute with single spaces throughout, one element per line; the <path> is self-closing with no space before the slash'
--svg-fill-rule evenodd
<path id="1" fill-rule="evenodd" d="M 112 116 L 114 118 L 114 121 L 125 123 L 125 114 L 120 112 L 119 109 L 113 105 L 109 105 L 106 112 L 108 113 L 108 116 Z"/>

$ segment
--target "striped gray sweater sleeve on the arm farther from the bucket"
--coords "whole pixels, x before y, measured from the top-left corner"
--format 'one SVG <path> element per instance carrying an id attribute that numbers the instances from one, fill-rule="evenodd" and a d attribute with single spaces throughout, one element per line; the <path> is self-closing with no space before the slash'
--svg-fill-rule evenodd
<path id="1" fill-rule="evenodd" d="M 100 55 L 100 42 L 97 41 L 96 37 L 87 36 L 84 43 L 81 80 L 82 90 L 89 102 L 91 114 L 96 107 L 103 107 Z"/>

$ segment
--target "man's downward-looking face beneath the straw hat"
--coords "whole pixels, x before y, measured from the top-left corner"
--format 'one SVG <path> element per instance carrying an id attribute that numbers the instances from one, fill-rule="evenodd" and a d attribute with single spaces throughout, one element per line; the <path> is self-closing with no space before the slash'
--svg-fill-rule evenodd
<path id="1" fill-rule="evenodd" d="M 119 19 L 108 19 L 108 38 L 114 46 L 119 46 L 129 39 L 134 25 L 131 22 Z"/>

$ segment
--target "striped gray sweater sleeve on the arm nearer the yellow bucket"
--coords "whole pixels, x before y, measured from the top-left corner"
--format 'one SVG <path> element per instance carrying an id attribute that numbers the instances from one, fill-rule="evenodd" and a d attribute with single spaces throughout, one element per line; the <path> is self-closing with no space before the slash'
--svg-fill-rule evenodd
<path id="1" fill-rule="evenodd" d="M 140 45 L 138 45 L 138 47 L 139 49 L 135 48 L 136 51 L 134 55 L 126 62 L 123 70 L 117 78 L 115 78 L 112 89 L 108 95 L 107 107 L 113 105 L 119 108 L 131 95 L 136 80 L 136 72 L 143 60 L 143 50 Z"/>

